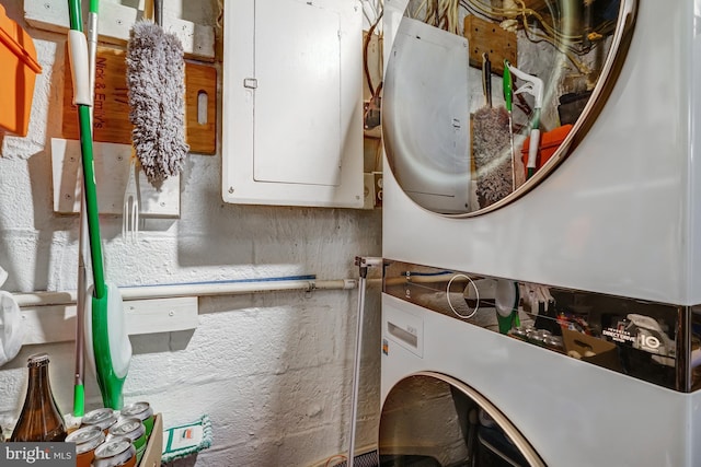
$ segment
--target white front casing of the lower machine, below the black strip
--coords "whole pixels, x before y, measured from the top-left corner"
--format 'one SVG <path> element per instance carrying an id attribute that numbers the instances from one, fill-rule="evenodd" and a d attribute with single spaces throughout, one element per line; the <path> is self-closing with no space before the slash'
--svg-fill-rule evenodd
<path id="1" fill-rule="evenodd" d="M 398 328 L 415 339 L 398 338 L 390 331 Z M 402 380 L 432 371 L 486 397 L 548 466 L 686 467 L 701 459 L 692 442 L 699 393 L 665 389 L 387 294 L 382 338 L 382 404 Z"/>

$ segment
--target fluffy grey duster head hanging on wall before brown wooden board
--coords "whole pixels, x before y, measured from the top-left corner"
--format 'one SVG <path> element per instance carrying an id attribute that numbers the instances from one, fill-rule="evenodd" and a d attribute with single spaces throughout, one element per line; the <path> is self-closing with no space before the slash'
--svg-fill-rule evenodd
<path id="1" fill-rule="evenodd" d="M 183 46 L 161 26 L 139 21 L 129 33 L 126 62 L 134 149 L 149 182 L 162 182 L 181 172 L 189 151 Z"/>

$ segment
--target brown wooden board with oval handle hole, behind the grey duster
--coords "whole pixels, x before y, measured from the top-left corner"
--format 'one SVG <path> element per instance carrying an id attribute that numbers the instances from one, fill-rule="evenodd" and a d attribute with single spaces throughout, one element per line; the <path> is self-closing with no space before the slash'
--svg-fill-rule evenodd
<path id="1" fill-rule="evenodd" d="M 97 47 L 93 139 L 100 142 L 131 143 L 126 84 L 126 51 Z M 73 89 L 68 54 L 64 86 L 62 137 L 78 139 L 78 118 L 72 105 Z M 200 97 L 204 95 L 204 98 Z M 214 154 L 217 141 L 217 70 L 210 65 L 185 62 L 185 140 L 191 152 Z M 200 106 L 206 115 L 198 116 Z M 203 121 L 204 122 L 200 122 Z"/>

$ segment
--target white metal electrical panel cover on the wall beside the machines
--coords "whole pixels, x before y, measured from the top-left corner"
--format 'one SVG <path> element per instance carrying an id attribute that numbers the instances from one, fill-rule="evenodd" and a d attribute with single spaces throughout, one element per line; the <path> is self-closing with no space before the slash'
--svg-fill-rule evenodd
<path id="1" fill-rule="evenodd" d="M 361 208 L 360 2 L 227 7 L 223 200 Z"/>

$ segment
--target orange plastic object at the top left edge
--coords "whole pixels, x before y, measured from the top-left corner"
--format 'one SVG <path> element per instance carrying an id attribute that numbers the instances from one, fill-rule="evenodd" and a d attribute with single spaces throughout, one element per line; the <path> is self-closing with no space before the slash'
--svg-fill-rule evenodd
<path id="1" fill-rule="evenodd" d="M 0 4 L 0 127 L 26 136 L 34 81 L 42 67 L 32 37 Z"/>

